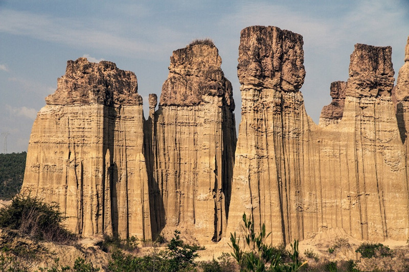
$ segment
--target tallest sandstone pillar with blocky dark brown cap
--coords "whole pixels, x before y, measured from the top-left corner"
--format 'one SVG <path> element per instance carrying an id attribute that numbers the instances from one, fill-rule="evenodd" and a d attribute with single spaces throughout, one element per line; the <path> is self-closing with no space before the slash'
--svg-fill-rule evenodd
<path id="1" fill-rule="evenodd" d="M 302 232 L 301 183 L 309 178 L 310 119 L 303 96 L 302 36 L 277 27 L 241 31 L 238 77 L 242 119 L 236 149 L 229 232 L 243 212 L 271 239 L 287 242 Z M 313 167 L 313 164 L 311 164 Z"/>

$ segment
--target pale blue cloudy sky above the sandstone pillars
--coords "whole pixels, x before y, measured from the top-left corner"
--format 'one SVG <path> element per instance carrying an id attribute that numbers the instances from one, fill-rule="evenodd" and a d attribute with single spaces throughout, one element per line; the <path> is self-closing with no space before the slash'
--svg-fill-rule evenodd
<path id="1" fill-rule="evenodd" d="M 211 38 L 241 97 L 237 58 L 241 29 L 277 26 L 304 37 L 307 113 L 318 122 L 330 83 L 348 79 L 355 43 L 393 47 L 397 77 L 409 35 L 409 1 L 2 1 L 0 0 L 0 133 L 8 152 L 26 151 L 44 97 L 57 88 L 67 60 L 115 62 L 138 77 L 147 105 L 160 95 L 172 51 Z M 3 138 L 0 141 L 3 152 Z"/>

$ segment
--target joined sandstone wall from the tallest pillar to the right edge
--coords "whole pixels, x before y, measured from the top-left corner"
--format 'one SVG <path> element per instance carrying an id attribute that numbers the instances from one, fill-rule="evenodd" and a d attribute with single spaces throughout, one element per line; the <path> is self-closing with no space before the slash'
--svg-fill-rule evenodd
<path id="1" fill-rule="evenodd" d="M 264 51 L 252 46 L 257 40 L 253 37 L 258 44 L 271 44 L 262 39 L 269 41 L 274 35 L 281 40 L 267 52 L 290 48 L 285 56 L 303 55 L 300 35 L 274 27 L 242 31 L 242 121 L 227 233 L 240 231 L 246 212 L 255 226 L 265 222 L 275 243 L 329 228 L 357 239 L 406 239 L 409 197 L 405 149 L 391 98 L 391 48 L 355 45 L 348 82 L 331 86 L 334 100 L 345 101 L 344 109 L 339 104 L 326 106 L 322 117 L 337 119 L 331 126 L 318 127 L 306 115 L 297 92 L 304 77 L 302 58 L 292 60 L 300 63 L 289 66 L 297 80 L 286 80 L 285 88 L 274 76 L 285 73 L 284 64 L 271 65 L 282 67 L 274 75 L 260 68 L 275 63 L 274 54 L 260 54 Z M 345 98 L 340 98 L 343 93 Z"/>

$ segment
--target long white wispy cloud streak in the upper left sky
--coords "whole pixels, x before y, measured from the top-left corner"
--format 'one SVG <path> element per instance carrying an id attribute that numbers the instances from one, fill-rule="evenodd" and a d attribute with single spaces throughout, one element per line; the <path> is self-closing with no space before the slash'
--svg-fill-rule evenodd
<path id="1" fill-rule="evenodd" d="M 115 29 L 115 26 L 118 28 Z M 108 28 L 104 28 L 103 23 L 94 22 L 87 26 L 78 19 L 56 18 L 10 9 L 0 10 L 0 32 L 4 33 L 106 52 L 115 51 L 124 56 L 152 57 L 164 52 L 168 47 L 166 39 L 161 36 L 155 37 L 156 31 L 146 32 L 140 28 L 141 35 L 150 35 L 150 39 L 142 40 L 138 39 L 138 33 L 134 33 L 136 30 L 126 32 L 125 28 L 124 23 L 119 21 L 112 21 Z M 130 31 L 132 35 L 129 35 Z M 162 32 L 161 29 L 157 31 Z M 172 35 L 175 31 L 169 29 L 166 33 Z"/>

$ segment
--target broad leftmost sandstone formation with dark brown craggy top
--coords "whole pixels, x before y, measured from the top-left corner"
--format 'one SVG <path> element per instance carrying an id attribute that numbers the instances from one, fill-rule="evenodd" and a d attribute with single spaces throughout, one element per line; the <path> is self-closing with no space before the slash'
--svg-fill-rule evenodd
<path id="1" fill-rule="evenodd" d="M 151 238 L 142 98 L 115 63 L 69 61 L 34 122 L 22 191 L 57 202 L 83 236 Z"/>

